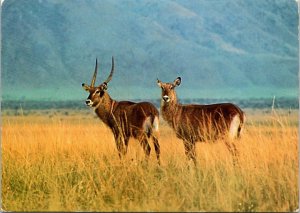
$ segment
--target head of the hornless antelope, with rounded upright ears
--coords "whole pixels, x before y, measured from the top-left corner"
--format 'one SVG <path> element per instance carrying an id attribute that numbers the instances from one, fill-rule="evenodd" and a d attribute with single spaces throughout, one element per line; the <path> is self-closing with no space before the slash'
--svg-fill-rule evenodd
<path id="1" fill-rule="evenodd" d="M 163 83 L 157 79 L 157 85 L 161 88 L 161 98 L 164 103 L 177 101 L 175 87 L 179 86 L 180 83 L 180 77 L 177 77 L 173 83 Z"/>

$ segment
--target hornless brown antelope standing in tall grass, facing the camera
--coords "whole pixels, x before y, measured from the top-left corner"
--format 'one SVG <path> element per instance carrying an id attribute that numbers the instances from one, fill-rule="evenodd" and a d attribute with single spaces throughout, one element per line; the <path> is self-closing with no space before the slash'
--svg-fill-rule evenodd
<path id="1" fill-rule="evenodd" d="M 237 150 L 231 141 L 240 137 L 245 121 L 244 112 L 232 103 L 182 105 L 177 101 L 175 91 L 180 83 L 180 77 L 173 83 L 163 83 L 157 79 L 162 89 L 162 117 L 175 130 L 177 137 L 183 140 L 188 159 L 196 164 L 195 142 L 218 138 L 225 138 L 227 148 L 236 156 Z"/>

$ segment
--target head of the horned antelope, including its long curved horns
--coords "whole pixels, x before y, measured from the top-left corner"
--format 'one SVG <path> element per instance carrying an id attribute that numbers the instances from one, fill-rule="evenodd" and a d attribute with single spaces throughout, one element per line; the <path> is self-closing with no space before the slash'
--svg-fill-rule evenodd
<path id="1" fill-rule="evenodd" d="M 86 105 L 90 107 L 96 107 L 98 103 L 101 101 L 105 91 L 107 90 L 108 82 L 110 82 L 114 73 L 114 58 L 112 57 L 111 71 L 108 78 L 102 84 L 95 87 L 97 70 L 98 70 L 98 61 L 96 59 L 95 71 L 94 71 L 91 85 L 86 85 L 84 83 L 82 84 L 83 89 L 90 93 L 88 98 L 85 101 Z"/>

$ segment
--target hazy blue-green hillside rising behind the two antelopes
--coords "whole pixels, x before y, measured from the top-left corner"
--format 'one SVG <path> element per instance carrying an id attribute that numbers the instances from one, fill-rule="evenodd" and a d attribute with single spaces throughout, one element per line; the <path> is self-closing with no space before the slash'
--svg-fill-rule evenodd
<path id="1" fill-rule="evenodd" d="M 298 12 L 292 0 L 5 0 L 3 99 L 85 99 L 115 74 L 118 99 L 159 98 L 156 78 L 182 77 L 181 97 L 298 94 Z"/>

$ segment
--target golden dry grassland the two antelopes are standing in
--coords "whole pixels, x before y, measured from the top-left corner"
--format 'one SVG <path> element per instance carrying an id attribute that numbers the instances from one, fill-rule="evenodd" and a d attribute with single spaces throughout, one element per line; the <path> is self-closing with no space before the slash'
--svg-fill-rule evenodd
<path id="1" fill-rule="evenodd" d="M 162 165 L 135 140 L 120 160 L 92 111 L 2 112 L 7 211 L 295 211 L 298 110 L 245 110 L 239 164 L 222 142 L 198 143 L 198 167 L 161 121 Z"/>

